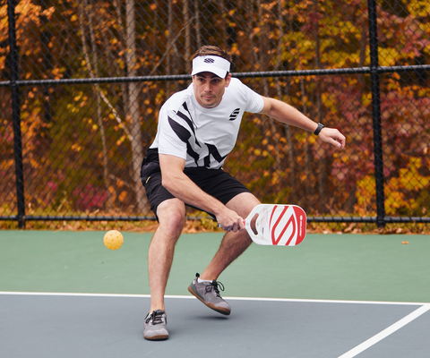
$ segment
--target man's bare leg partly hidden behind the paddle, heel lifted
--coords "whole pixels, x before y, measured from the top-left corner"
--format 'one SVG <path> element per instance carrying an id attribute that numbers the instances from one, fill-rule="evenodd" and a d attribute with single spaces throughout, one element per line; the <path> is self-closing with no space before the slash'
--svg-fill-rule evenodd
<path id="1" fill-rule="evenodd" d="M 235 210 L 241 217 L 247 217 L 260 201 L 249 192 L 236 195 L 228 201 L 228 209 Z M 237 233 L 228 232 L 224 235 L 219 250 L 211 260 L 211 263 L 202 272 L 202 279 L 216 280 L 230 263 L 236 260 L 253 243 L 248 233 L 243 230 Z"/>

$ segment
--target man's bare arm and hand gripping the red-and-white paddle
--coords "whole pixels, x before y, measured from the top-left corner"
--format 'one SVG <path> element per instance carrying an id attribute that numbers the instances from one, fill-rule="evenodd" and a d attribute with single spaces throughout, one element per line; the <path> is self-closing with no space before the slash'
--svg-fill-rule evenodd
<path id="1" fill-rule="evenodd" d="M 163 186 L 177 199 L 212 213 L 226 231 L 236 233 L 237 230 L 244 228 L 242 217 L 238 216 L 235 211 L 228 209 L 219 200 L 203 192 L 184 174 L 185 159 L 159 154 L 159 166 Z"/>

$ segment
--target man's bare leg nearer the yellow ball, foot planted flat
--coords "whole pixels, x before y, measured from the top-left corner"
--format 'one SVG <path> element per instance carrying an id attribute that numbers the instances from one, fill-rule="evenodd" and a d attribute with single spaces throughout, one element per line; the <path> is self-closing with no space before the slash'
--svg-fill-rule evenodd
<path id="1" fill-rule="evenodd" d="M 181 200 L 169 199 L 157 209 L 159 228 L 152 236 L 148 252 L 148 275 L 150 277 L 150 312 L 165 310 L 164 294 L 168 274 L 172 267 L 177 239 L 185 223 L 185 205 Z"/>

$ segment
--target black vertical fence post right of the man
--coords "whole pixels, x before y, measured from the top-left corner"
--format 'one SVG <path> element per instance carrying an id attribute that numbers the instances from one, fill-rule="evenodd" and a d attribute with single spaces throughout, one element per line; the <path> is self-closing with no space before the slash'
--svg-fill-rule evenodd
<path id="1" fill-rule="evenodd" d="M 374 179 L 376 182 L 376 224 L 385 226 L 385 195 L 383 192 L 383 136 L 381 129 L 381 76 L 378 72 L 378 26 L 376 1 L 368 0 L 370 79 L 372 83 L 372 117 L 374 121 Z"/>

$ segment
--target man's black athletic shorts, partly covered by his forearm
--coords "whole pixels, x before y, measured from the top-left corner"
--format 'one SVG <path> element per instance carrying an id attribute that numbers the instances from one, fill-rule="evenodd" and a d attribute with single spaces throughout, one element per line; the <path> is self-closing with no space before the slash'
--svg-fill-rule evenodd
<path id="1" fill-rule="evenodd" d="M 222 169 L 209 169 L 204 166 L 189 167 L 184 170 L 193 183 L 195 183 L 203 192 L 208 193 L 214 198 L 221 201 L 224 205 L 241 192 L 250 192 L 243 183 L 236 178 L 224 172 Z M 157 149 L 150 149 L 143 158 L 141 168 L 142 184 L 146 191 L 146 196 L 150 201 L 150 209 L 157 216 L 157 208 L 161 202 L 175 198 L 161 184 L 161 171 L 159 168 L 159 153 Z M 194 207 L 193 205 L 187 204 Z M 208 212 L 211 216 L 212 213 Z"/>

